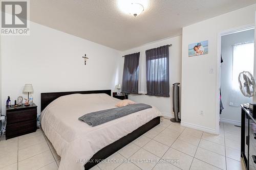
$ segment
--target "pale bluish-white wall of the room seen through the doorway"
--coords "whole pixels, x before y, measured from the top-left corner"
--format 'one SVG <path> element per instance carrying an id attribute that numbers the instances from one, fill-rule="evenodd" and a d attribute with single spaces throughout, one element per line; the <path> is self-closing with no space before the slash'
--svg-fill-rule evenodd
<path id="1" fill-rule="evenodd" d="M 229 34 L 221 37 L 221 54 L 223 63 L 221 63 L 221 94 L 224 110 L 220 115 L 221 121 L 239 125 L 241 123 L 240 106 L 230 106 L 230 87 L 232 87 L 232 45 L 244 42 L 254 41 L 254 29 L 235 34 Z M 243 56 L 241 56 L 243 57 Z M 238 96 L 242 103 L 251 103 L 252 98 L 247 98 L 242 93 Z M 241 103 L 241 104 L 242 104 Z"/>

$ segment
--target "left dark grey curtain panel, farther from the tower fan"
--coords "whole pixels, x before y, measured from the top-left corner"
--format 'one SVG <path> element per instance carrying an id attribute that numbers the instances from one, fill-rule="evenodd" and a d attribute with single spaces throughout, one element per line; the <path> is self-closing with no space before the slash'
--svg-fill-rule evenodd
<path id="1" fill-rule="evenodd" d="M 124 56 L 122 92 L 138 94 L 140 53 Z"/>

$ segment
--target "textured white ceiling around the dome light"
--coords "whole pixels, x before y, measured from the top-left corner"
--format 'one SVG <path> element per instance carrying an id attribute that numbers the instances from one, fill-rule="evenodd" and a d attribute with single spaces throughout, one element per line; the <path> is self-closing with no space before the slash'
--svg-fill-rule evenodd
<path id="1" fill-rule="evenodd" d="M 123 0 L 126 1 L 126 0 Z M 120 51 L 173 37 L 182 27 L 251 4 L 256 0 L 152 0 L 137 17 L 111 0 L 33 0 L 30 19 Z"/>

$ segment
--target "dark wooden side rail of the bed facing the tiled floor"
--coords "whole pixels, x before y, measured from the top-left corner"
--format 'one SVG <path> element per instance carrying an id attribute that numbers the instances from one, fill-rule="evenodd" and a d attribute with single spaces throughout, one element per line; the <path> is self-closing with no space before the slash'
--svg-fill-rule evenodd
<path id="1" fill-rule="evenodd" d="M 120 138 L 119 140 L 109 144 L 105 148 L 99 150 L 93 157 L 84 165 L 84 170 L 90 169 L 96 164 L 98 164 L 102 159 L 108 158 L 110 155 L 114 154 L 121 148 L 123 148 L 126 144 L 132 142 L 145 132 L 149 131 L 150 129 L 154 128 L 160 124 L 160 117 L 155 117 L 154 119 L 150 120 L 150 122 L 142 125 L 138 129 L 134 130 L 132 133 Z"/>

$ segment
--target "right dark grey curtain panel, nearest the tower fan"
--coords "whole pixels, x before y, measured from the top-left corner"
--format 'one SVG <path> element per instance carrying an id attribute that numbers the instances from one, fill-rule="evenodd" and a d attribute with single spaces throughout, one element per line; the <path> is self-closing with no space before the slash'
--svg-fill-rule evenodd
<path id="1" fill-rule="evenodd" d="M 169 45 L 146 51 L 147 95 L 169 97 Z"/>

